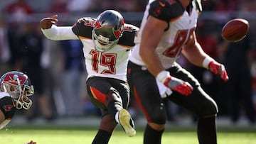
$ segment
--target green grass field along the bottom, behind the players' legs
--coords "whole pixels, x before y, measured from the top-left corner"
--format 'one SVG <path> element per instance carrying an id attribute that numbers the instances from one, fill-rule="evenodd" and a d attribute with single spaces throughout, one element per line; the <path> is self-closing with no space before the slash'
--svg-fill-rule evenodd
<path id="1" fill-rule="evenodd" d="M 9 126 L 0 130 L 0 144 L 23 144 L 30 140 L 38 144 L 90 144 L 97 128 L 85 126 Z M 121 128 L 114 131 L 110 144 L 142 144 L 143 128 L 137 135 L 127 137 Z M 198 144 L 193 127 L 166 128 L 162 144 Z M 256 144 L 256 128 L 218 128 L 219 144 Z"/>

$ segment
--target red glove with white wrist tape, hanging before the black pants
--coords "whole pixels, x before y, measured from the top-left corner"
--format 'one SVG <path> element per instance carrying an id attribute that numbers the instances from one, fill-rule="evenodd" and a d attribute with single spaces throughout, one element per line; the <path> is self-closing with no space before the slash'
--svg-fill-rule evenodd
<path id="1" fill-rule="evenodd" d="M 171 77 L 171 75 L 167 71 L 160 72 L 157 75 L 156 79 L 158 79 L 160 82 L 163 82 L 166 87 L 169 87 L 170 89 L 185 96 L 191 94 L 193 90 L 191 84 L 189 84 L 188 82 L 184 82 L 183 80 L 176 77 Z"/>

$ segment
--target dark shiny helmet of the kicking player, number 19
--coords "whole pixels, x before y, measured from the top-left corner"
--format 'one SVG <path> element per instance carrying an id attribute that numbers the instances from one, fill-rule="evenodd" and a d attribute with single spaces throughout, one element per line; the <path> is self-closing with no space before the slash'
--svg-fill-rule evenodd
<path id="1" fill-rule="evenodd" d="M 117 45 L 124 31 L 124 18 L 114 10 L 107 10 L 97 17 L 92 30 L 95 49 L 105 52 Z"/>

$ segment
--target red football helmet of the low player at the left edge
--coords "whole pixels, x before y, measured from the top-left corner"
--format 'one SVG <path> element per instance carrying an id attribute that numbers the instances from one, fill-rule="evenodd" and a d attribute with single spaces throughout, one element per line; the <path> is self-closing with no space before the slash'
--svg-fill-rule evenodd
<path id="1" fill-rule="evenodd" d="M 16 101 L 16 109 L 29 109 L 32 105 L 27 96 L 34 94 L 33 85 L 26 74 L 18 71 L 6 72 L 0 79 L 1 91 L 7 92 Z"/>

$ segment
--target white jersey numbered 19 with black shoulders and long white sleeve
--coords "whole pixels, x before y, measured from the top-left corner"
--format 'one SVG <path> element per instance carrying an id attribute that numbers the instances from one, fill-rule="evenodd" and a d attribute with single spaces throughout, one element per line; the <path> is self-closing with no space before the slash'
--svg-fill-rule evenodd
<path id="1" fill-rule="evenodd" d="M 127 81 L 127 62 L 134 47 L 134 36 L 139 30 L 136 26 L 124 23 L 124 33 L 114 48 L 100 52 L 92 40 L 94 18 L 80 18 L 71 26 L 52 26 L 42 30 L 51 40 L 81 40 L 88 77 L 110 77 Z"/>

